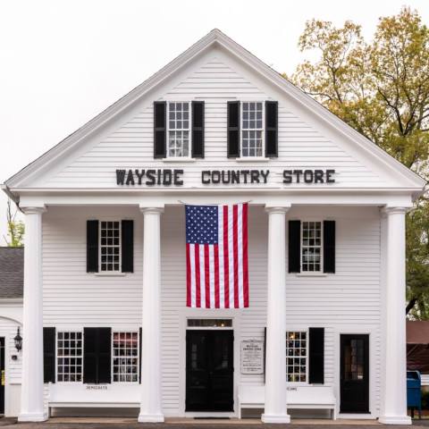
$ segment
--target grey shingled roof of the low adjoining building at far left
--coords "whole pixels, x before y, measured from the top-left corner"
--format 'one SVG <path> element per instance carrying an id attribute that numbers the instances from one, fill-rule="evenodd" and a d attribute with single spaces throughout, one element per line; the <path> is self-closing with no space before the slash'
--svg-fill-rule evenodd
<path id="1" fill-rule="evenodd" d="M 0 299 L 21 299 L 24 286 L 24 248 L 0 248 Z"/>

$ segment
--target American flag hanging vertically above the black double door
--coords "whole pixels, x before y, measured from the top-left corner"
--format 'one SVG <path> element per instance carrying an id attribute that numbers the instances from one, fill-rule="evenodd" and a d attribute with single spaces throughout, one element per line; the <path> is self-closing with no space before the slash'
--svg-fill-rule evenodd
<path id="1" fill-rule="evenodd" d="M 187 306 L 248 307 L 248 204 L 185 210 Z"/>

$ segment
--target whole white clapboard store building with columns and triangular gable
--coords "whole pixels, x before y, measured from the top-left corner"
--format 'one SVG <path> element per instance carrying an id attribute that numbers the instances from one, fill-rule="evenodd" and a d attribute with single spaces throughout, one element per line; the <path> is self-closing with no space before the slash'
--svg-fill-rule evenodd
<path id="1" fill-rule="evenodd" d="M 4 183 L 26 219 L 20 420 L 409 424 L 405 214 L 424 185 L 214 29 Z M 212 277 L 187 307 L 183 203 L 234 223 L 246 202 L 248 307 L 215 308 Z"/>

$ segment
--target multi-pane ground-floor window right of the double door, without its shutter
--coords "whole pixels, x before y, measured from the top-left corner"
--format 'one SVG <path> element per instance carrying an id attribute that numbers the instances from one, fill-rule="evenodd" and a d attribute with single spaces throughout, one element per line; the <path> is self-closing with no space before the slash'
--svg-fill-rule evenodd
<path id="1" fill-rule="evenodd" d="M 307 332 L 286 332 L 288 382 L 307 382 Z"/>

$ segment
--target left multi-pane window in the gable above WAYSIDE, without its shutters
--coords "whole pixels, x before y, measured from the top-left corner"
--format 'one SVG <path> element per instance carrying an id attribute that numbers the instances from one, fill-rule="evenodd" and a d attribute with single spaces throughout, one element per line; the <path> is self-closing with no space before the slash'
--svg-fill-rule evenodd
<path id="1" fill-rule="evenodd" d="M 168 105 L 168 156 L 189 156 L 189 103 Z"/>

